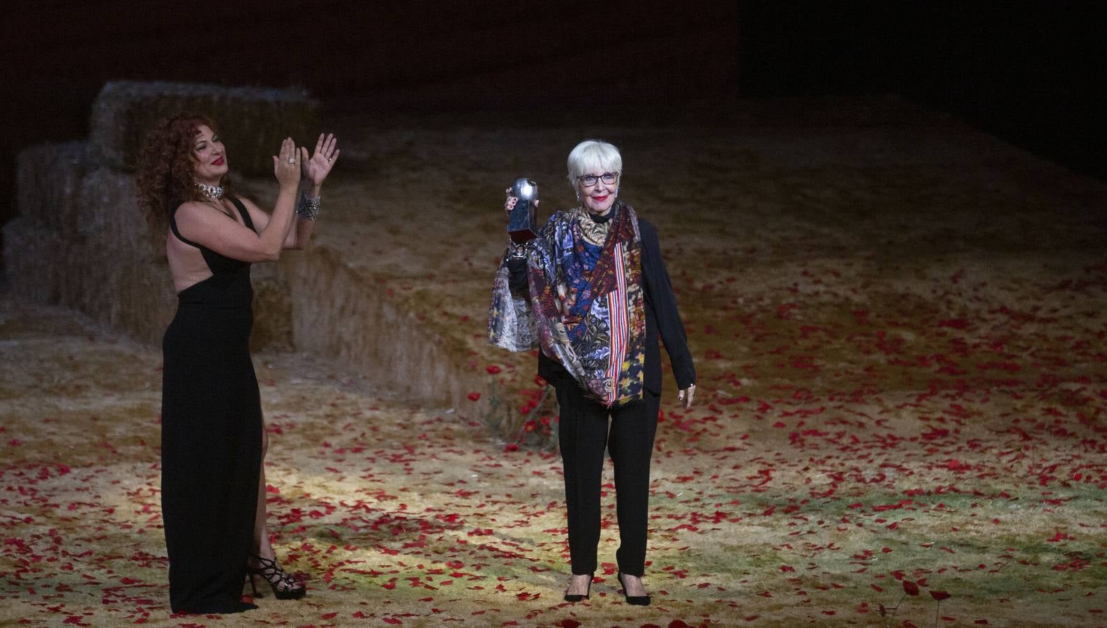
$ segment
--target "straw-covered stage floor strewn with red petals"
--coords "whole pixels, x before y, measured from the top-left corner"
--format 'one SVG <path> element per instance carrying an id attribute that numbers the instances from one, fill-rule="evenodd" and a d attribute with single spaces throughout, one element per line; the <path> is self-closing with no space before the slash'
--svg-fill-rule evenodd
<path id="1" fill-rule="evenodd" d="M 1107 624 L 1103 184 L 897 99 L 331 122 L 315 243 L 277 267 L 296 351 L 256 353 L 308 597 L 169 616 L 159 350 L 9 290 L 0 625 Z M 603 568 L 561 601 L 556 410 L 525 423 L 535 359 L 485 342 L 503 189 L 536 178 L 545 217 L 590 136 L 658 227 L 700 374 L 687 412 L 665 384 L 648 608 L 618 594 L 610 465 Z"/>

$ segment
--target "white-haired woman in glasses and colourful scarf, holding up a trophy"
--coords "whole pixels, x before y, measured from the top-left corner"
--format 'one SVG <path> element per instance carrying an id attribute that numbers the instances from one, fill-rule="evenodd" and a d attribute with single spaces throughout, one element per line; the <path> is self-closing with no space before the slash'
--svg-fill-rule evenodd
<path id="1" fill-rule="evenodd" d="M 659 338 L 685 408 L 695 393 L 695 368 L 658 233 L 618 199 L 619 150 L 581 142 L 569 153 L 568 171 L 578 205 L 555 213 L 535 239 L 509 246 L 496 274 L 488 336 L 513 351 L 540 346 L 538 373 L 557 390 L 572 560 L 566 601 L 591 593 L 607 449 L 614 463 L 618 577 L 627 601 L 644 606 Z M 505 209 L 516 200 L 508 189 Z"/>

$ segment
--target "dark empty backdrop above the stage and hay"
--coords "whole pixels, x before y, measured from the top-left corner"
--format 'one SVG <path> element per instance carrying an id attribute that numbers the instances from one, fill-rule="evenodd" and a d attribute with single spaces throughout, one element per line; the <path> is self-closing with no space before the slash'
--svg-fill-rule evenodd
<path id="1" fill-rule="evenodd" d="M 727 124 L 744 99 L 897 93 L 1107 181 L 1104 23 L 1064 1 L 21 1 L 0 25 L 0 223 L 18 152 L 86 137 L 121 79 L 527 124 Z"/>

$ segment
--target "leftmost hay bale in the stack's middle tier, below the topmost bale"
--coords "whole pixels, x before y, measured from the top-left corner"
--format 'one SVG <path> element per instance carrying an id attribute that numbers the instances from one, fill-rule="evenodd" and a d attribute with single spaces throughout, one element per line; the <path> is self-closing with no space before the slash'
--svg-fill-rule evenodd
<path id="1" fill-rule="evenodd" d="M 19 215 L 60 234 L 77 233 L 81 182 L 93 165 L 87 142 L 40 144 L 15 157 Z"/>

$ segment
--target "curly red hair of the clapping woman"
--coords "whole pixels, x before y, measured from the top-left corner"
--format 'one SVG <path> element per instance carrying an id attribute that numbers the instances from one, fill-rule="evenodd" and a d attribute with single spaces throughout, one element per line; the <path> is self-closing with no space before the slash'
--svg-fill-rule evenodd
<path id="1" fill-rule="evenodd" d="M 193 157 L 200 125 L 218 133 L 211 119 L 182 113 L 158 121 L 146 134 L 138 155 L 138 203 L 147 209 L 146 218 L 156 234 L 164 233 L 169 214 L 182 203 L 205 199 L 196 186 Z M 219 185 L 225 195 L 231 193 L 227 175 Z"/>

